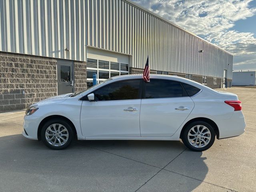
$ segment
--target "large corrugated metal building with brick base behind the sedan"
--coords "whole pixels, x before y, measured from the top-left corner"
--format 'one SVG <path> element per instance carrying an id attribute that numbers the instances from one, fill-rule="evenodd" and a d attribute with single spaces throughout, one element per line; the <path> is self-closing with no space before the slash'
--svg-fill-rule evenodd
<path id="1" fill-rule="evenodd" d="M 83 90 L 94 73 L 142 73 L 147 56 L 151 73 L 232 81 L 232 54 L 129 0 L 0 0 L 0 56 L 0 111 Z"/>

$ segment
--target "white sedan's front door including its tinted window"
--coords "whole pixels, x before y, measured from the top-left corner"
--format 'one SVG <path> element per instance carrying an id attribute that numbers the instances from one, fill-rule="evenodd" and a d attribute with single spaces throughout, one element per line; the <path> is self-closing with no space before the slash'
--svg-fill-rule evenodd
<path id="1" fill-rule="evenodd" d="M 142 80 L 124 80 L 95 90 L 95 101 L 82 102 L 82 134 L 90 137 L 140 137 Z"/>

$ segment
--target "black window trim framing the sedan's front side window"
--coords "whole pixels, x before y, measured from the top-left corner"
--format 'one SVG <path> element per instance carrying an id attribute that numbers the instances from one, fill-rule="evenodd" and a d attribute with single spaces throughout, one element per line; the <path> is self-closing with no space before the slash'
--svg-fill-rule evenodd
<path id="1" fill-rule="evenodd" d="M 115 82 L 106 84 L 106 85 L 101 86 L 101 87 L 99 87 L 99 88 L 93 90 L 92 92 L 86 94 L 85 96 L 83 96 L 83 97 L 80 98 L 79 100 L 81 100 L 81 101 L 89 101 L 89 100 L 88 100 L 88 97 L 87 97 L 89 94 L 94 93 L 95 91 L 97 91 L 97 90 L 99 90 L 99 89 L 101 89 L 101 88 L 103 88 L 103 87 L 105 87 L 105 86 L 108 86 L 108 85 L 110 85 L 110 84 L 117 83 L 117 82 L 132 81 L 132 80 L 138 80 L 138 81 L 140 81 L 140 85 L 139 85 L 139 95 L 138 95 L 139 98 L 138 98 L 138 99 L 142 99 L 142 92 L 143 92 L 142 89 L 143 89 L 143 85 L 144 85 L 144 84 L 143 84 L 144 80 L 143 80 L 143 79 L 136 78 L 136 79 L 124 79 L 124 80 L 115 81 Z M 126 101 L 126 100 L 137 100 L 137 99 L 122 99 L 122 100 L 108 100 L 108 101 L 95 101 L 95 102 Z M 89 101 L 89 102 L 90 102 L 90 101 Z"/>

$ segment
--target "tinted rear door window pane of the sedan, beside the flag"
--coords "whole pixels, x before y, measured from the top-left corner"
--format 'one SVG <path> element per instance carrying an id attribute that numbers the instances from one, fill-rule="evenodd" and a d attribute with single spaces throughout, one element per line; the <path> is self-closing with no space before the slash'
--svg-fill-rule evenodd
<path id="1" fill-rule="evenodd" d="M 182 97 L 183 88 L 179 82 L 150 79 L 146 84 L 146 99 Z"/>

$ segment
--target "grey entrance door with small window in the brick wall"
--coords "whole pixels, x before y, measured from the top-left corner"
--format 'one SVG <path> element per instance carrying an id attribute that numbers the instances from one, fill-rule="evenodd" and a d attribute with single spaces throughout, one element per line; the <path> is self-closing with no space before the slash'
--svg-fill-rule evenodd
<path id="1" fill-rule="evenodd" d="M 74 92 L 74 63 L 68 60 L 58 60 L 58 95 Z"/>

